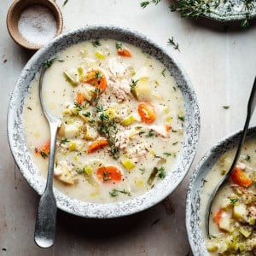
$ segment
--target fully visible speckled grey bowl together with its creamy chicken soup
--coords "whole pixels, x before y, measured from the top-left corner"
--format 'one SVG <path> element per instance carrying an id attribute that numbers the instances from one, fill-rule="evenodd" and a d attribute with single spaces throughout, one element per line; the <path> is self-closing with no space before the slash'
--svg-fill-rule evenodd
<path id="1" fill-rule="evenodd" d="M 199 132 L 195 94 L 176 62 L 148 38 L 118 28 L 68 32 L 40 50 L 21 73 L 9 108 L 12 152 L 39 194 L 49 155 L 49 125 L 38 97 L 42 65 L 48 67 L 44 102 L 61 119 L 58 207 L 84 217 L 118 217 L 169 195 L 189 170 Z"/>

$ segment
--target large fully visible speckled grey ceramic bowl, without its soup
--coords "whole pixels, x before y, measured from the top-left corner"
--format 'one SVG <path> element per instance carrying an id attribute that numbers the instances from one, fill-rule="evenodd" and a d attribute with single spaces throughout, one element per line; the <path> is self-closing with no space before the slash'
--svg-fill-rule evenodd
<path id="1" fill-rule="evenodd" d="M 137 198 L 113 204 L 96 204 L 78 201 L 67 197 L 67 195 L 55 189 L 57 206 L 61 210 L 82 217 L 115 218 L 134 212 L 140 212 L 148 207 L 154 206 L 169 195 L 183 180 L 195 156 L 200 130 L 200 114 L 195 92 L 187 75 L 183 72 L 183 69 L 165 50 L 160 49 L 160 47 L 154 44 L 149 38 L 144 37 L 138 32 L 109 26 L 87 26 L 62 34 L 43 49 L 40 49 L 33 55 L 32 59 L 28 61 L 15 85 L 15 90 L 9 103 L 8 136 L 10 148 L 17 165 L 20 167 L 20 172 L 38 194 L 42 195 L 44 192 L 45 180 L 41 176 L 38 168 L 33 164 L 32 156 L 29 154 L 26 147 L 22 119 L 26 95 L 30 89 L 32 79 L 35 77 L 35 74 L 38 73 L 44 61 L 53 58 L 62 49 L 66 49 L 73 44 L 85 40 L 90 40 L 91 38 L 112 38 L 128 42 L 143 49 L 144 52 L 153 55 L 172 73 L 172 76 L 177 81 L 178 88 L 183 93 L 184 99 L 186 119 L 183 124 L 184 137 L 181 152 L 177 155 L 175 165 L 172 166 L 172 172 L 168 172 L 166 178 L 153 189 Z"/>

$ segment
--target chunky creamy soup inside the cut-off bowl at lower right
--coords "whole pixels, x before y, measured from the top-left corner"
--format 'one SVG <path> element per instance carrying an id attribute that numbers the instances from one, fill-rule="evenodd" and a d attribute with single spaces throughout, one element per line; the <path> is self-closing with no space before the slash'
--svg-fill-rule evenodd
<path id="1" fill-rule="evenodd" d="M 205 230 L 206 206 L 212 189 L 229 171 L 235 149 L 220 157 L 208 174 L 201 196 L 201 225 Z M 255 255 L 256 253 L 256 140 L 245 143 L 240 159 L 213 202 L 210 218 L 211 255 Z"/>

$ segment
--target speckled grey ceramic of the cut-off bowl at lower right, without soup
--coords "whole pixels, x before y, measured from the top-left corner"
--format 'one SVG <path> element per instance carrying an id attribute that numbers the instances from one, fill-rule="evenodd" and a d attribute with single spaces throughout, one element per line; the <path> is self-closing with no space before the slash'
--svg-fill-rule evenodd
<path id="1" fill-rule="evenodd" d="M 236 131 L 229 137 L 225 137 L 218 144 L 212 147 L 207 154 L 203 156 L 199 164 L 195 167 L 189 181 L 186 201 L 186 226 L 189 236 L 190 247 L 195 256 L 208 255 L 207 247 L 202 232 L 201 224 L 201 191 L 204 186 L 204 179 L 212 170 L 218 158 L 237 146 L 241 137 L 241 131 Z M 247 132 L 246 139 L 256 137 L 256 126 L 253 126 Z"/>

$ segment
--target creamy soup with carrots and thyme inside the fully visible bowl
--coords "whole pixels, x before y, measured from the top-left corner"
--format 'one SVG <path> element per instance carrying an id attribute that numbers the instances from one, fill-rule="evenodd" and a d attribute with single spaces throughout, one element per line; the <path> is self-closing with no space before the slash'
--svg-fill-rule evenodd
<path id="1" fill-rule="evenodd" d="M 45 63 L 44 102 L 61 119 L 55 188 L 80 201 L 142 195 L 172 172 L 183 139 L 183 96 L 166 67 L 126 43 L 73 45 Z M 26 143 L 46 177 L 49 126 L 32 81 Z"/>

